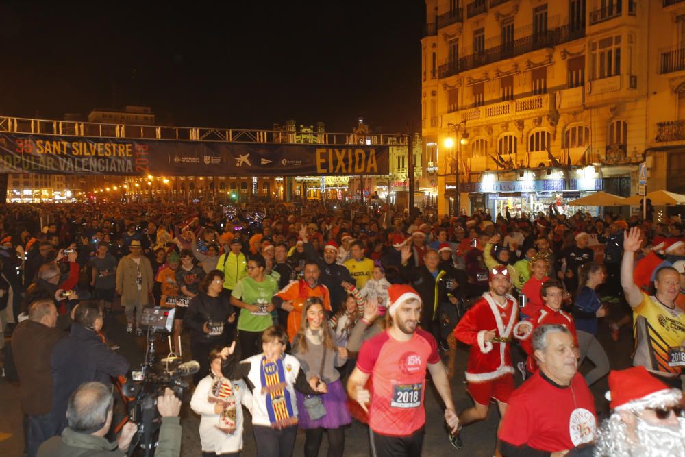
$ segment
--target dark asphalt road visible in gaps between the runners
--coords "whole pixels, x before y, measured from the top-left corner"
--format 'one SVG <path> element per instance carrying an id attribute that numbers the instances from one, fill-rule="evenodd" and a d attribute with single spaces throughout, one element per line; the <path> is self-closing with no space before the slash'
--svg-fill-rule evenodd
<path id="1" fill-rule="evenodd" d="M 145 338 L 127 335 L 125 333 L 125 319 L 121 310 L 115 307 L 115 313 L 105 321 L 105 333 L 112 344 L 121 346 L 119 351 L 131 362 L 132 368 L 138 367 L 145 356 Z M 601 325 L 599 341 L 606 349 L 612 369 L 623 369 L 630 366 L 630 354 L 633 347 L 632 329 L 624 327 L 621 329 L 619 341 L 614 342 L 608 333 L 608 326 Z M 190 347 L 187 336 L 183 339 L 184 359 L 190 359 Z M 456 349 L 456 375 L 451 380 L 452 394 L 458 410 L 471 406 L 471 397 L 466 393 L 464 384 L 464 368 L 466 366 L 467 347 L 460 345 Z M 166 354 L 168 347 L 158 345 L 158 354 Z M 447 362 L 445 356 L 443 360 Z M 514 362 L 523 360 L 514 349 Z M 0 365 L 2 361 L 0 360 Z M 590 362 L 585 362 L 581 371 L 588 371 Z M 520 375 L 516 373 L 516 383 L 521 382 Z M 192 382 L 191 382 L 192 384 Z M 429 384 L 430 385 L 430 384 Z M 23 456 L 23 432 L 22 432 L 22 412 L 19 404 L 19 384 L 8 382 L 5 378 L 0 379 L 0 456 L 14 457 Z M 192 387 L 191 387 L 192 388 Z M 595 395 L 595 405 L 597 412 L 601 416 L 607 408 L 608 402 L 603 395 L 608 388 L 606 378 L 599 380 L 592 386 Z M 481 423 L 474 423 L 462 430 L 464 448 L 456 450 L 451 447 L 447 440 L 445 425 L 443 421 L 443 407 L 440 406 L 434 389 L 428 388 L 425 398 L 426 409 L 426 435 L 423 445 L 423 456 L 440 455 L 464 455 L 464 456 L 492 456 L 495 450 L 495 433 L 499 422 L 499 412 L 497 408 L 490 408 L 488 419 Z M 184 406 L 181 417 L 183 425 L 182 436 L 182 456 L 201 455 L 199 441 L 199 417 L 188 407 L 190 393 L 184 396 Z M 248 415 L 249 417 L 249 415 Z M 245 425 L 245 447 L 243 455 L 255 456 L 255 441 L 249 423 Z M 347 428 L 345 432 L 345 456 L 369 456 L 369 431 L 366 425 L 356 421 Z M 303 455 L 304 434 L 300 432 L 297 436 L 295 445 L 295 456 Z M 323 440 L 319 455 L 325 456 L 327 441 Z"/>

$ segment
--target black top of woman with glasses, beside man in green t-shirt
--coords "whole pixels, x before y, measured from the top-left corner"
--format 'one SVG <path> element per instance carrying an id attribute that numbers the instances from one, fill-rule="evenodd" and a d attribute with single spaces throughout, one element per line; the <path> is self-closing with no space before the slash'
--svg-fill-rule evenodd
<path id="1" fill-rule="evenodd" d="M 200 341 L 202 343 L 210 343 L 216 341 L 224 341 L 228 330 L 228 318 L 233 314 L 233 305 L 229 303 L 228 297 L 219 295 L 219 297 L 210 297 L 206 293 L 200 291 L 195 297 L 190 300 L 186 316 L 183 323 L 186 328 L 190 329 L 190 339 Z M 219 336 L 210 336 L 206 334 L 203 327 L 208 321 L 223 322 L 223 334 Z"/>

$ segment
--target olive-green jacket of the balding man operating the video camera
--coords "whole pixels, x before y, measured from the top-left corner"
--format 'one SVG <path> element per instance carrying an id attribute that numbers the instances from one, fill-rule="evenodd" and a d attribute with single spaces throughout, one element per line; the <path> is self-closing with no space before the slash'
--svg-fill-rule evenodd
<path id="1" fill-rule="evenodd" d="M 135 440 L 135 437 L 134 437 Z M 179 417 L 162 417 L 157 457 L 181 454 L 181 423 Z M 125 457 L 127 454 L 101 436 L 74 432 L 67 427 L 62 436 L 53 436 L 38 449 L 38 457 Z"/>

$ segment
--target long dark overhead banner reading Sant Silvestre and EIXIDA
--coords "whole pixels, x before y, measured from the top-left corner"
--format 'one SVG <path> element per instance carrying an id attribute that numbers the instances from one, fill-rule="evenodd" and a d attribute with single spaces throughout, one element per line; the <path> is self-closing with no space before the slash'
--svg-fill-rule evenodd
<path id="1" fill-rule="evenodd" d="M 384 145 L 299 145 L 0 134 L 0 173 L 388 175 Z"/>

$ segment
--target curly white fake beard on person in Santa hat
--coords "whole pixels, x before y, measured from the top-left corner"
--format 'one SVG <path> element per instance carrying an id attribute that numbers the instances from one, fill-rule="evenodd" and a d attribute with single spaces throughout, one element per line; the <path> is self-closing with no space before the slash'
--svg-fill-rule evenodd
<path id="1" fill-rule="evenodd" d="M 634 439 L 621 417 L 614 413 L 597 431 L 595 456 L 685 457 L 685 419 L 679 425 L 652 425 L 637 419 Z"/>

